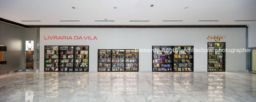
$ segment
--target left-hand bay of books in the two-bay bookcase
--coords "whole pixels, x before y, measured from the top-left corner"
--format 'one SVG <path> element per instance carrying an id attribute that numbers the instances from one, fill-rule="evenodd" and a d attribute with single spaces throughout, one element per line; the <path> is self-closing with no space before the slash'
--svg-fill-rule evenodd
<path id="1" fill-rule="evenodd" d="M 152 71 L 170 72 L 172 71 L 172 46 L 152 46 Z"/>

